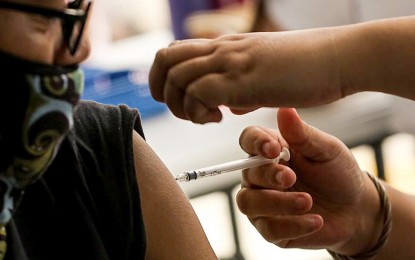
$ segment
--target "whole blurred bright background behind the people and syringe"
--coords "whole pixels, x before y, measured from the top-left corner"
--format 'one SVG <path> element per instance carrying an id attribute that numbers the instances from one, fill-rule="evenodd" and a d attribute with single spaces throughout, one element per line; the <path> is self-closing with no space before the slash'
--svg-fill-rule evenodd
<path id="1" fill-rule="evenodd" d="M 99 0 L 91 20 L 84 99 L 141 111 L 148 143 L 172 174 L 246 157 L 239 134 L 249 125 L 277 128 L 276 111 L 243 116 L 226 108 L 219 124 L 175 118 L 148 90 L 158 49 L 175 39 L 283 31 L 413 15 L 413 0 Z M 308 123 L 340 138 L 365 169 L 415 195 L 415 102 L 380 93 L 299 110 Z M 324 250 L 280 249 L 235 207 L 241 174 L 181 184 L 220 259 L 331 259 Z"/>

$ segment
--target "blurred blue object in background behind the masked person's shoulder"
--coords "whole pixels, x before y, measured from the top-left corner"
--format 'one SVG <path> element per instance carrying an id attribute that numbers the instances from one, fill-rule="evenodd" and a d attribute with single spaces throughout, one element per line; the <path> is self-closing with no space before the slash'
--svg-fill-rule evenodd
<path id="1" fill-rule="evenodd" d="M 153 99 L 148 85 L 148 70 L 133 69 L 107 71 L 82 67 L 85 74 L 84 100 L 104 104 L 126 104 L 137 108 L 142 119 L 167 110 L 163 103 Z"/>

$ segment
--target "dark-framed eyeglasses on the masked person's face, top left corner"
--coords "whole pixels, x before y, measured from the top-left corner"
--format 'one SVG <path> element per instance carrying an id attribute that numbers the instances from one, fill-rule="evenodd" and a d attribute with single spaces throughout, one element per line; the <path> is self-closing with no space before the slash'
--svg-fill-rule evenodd
<path id="1" fill-rule="evenodd" d="M 0 1 L 0 8 L 12 9 L 20 12 L 41 15 L 47 18 L 58 18 L 62 24 L 63 41 L 70 53 L 74 55 L 78 50 L 79 43 L 88 18 L 91 0 L 74 0 L 63 10 L 44 8 L 33 5 Z"/>

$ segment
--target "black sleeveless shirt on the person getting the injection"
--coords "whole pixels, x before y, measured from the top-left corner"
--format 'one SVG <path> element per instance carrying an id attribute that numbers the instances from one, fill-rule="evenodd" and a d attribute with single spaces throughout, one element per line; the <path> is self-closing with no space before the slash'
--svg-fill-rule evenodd
<path id="1" fill-rule="evenodd" d="M 82 101 L 74 128 L 7 226 L 6 259 L 143 259 L 132 132 L 139 113 Z"/>

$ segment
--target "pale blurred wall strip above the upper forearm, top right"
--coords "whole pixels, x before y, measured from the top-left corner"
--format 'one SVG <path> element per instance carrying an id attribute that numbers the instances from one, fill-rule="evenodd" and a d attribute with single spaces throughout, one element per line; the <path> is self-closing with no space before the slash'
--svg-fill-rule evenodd
<path id="1" fill-rule="evenodd" d="M 415 14 L 414 0 L 265 0 L 286 29 L 336 26 Z"/>

